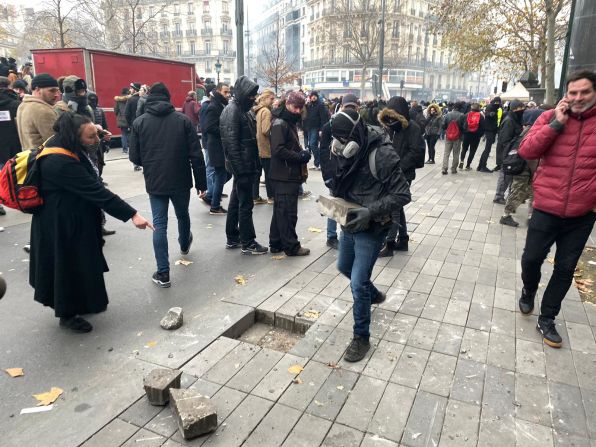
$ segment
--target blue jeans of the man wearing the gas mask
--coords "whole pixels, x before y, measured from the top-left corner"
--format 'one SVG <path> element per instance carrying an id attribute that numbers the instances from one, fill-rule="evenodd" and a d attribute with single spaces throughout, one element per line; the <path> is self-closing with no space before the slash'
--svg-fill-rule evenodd
<path id="1" fill-rule="evenodd" d="M 370 277 L 386 236 L 387 231 L 341 232 L 337 269 L 350 279 L 354 335 L 365 340 L 370 337 L 371 300 L 379 293 Z"/>

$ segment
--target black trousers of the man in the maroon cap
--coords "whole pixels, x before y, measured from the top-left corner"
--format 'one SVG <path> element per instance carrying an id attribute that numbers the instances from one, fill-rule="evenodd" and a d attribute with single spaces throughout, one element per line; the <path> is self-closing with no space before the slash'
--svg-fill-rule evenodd
<path id="1" fill-rule="evenodd" d="M 294 254 L 300 248 L 296 234 L 299 183 L 273 182 L 275 201 L 269 229 L 269 246 Z"/>

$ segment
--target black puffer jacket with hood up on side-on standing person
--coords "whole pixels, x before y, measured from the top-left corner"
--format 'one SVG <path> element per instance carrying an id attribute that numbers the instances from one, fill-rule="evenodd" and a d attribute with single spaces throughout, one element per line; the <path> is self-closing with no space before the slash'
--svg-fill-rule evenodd
<path id="1" fill-rule="evenodd" d="M 257 175 L 260 171 L 256 122 L 248 113 L 258 91 L 259 86 L 246 76 L 239 78 L 234 84 L 234 98 L 219 120 L 226 169 L 236 177 Z"/>

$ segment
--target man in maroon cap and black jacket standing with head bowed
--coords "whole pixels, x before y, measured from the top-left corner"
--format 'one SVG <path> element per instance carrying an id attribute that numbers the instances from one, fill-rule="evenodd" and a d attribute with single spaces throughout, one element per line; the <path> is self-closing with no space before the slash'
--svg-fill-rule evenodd
<path id="1" fill-rule="evenodd" d="M 296 234 L 298 193 L 305 180 L 310 153 L 300 146 L 297 124 L 301 119 L 305 99 L 300 92 L 291 92 L 285 104 L 273 111 L 271 127 L 271 179 L 275 201 L 269 231 L 271 253 L 306 256 L 308 248 L 300 245 Z"/>

